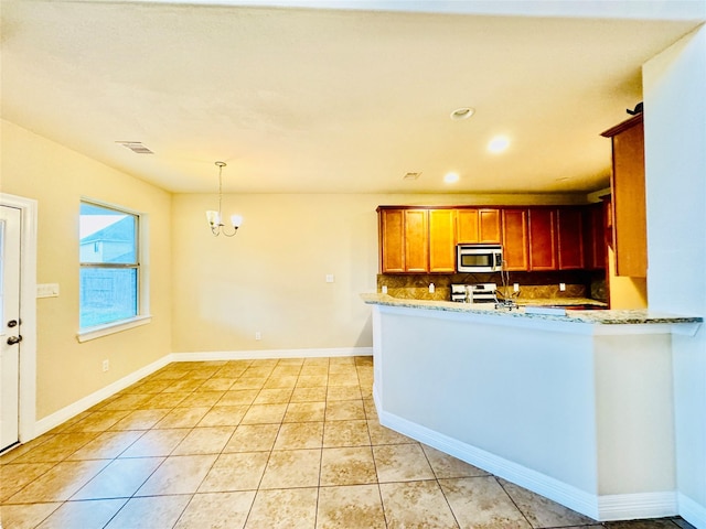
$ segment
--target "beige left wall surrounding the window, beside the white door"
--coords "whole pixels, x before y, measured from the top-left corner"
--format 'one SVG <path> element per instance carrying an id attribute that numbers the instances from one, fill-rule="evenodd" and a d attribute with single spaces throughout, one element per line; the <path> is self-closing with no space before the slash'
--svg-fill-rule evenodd
<path id="1" fill-rule="evenodd" d="M 171 195 L 25 129 L 2 121 L 0 188 L 39 202 L 36 419 L 42 419 L 171 353 Z M 149 214 L 152 322 L 79 344 L 81 197 Z M 101 363 L 110 360 L 103 373 Z"/>

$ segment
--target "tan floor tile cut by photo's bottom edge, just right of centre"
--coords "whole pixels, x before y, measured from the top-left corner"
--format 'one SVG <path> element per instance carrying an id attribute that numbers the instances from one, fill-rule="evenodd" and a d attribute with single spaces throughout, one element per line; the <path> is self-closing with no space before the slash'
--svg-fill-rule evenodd
<path id="1" fill-rule="evenodd" d="M 459 528 L 436 481 L 383 483 L 379 492 L 389 529 Z"/>

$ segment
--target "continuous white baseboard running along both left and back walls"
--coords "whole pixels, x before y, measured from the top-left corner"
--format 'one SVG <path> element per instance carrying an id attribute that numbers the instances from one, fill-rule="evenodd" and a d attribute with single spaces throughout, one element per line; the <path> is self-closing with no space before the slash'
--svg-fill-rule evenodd
<path id="1" fill-rule="evenodd" d="M 306 357 L 341 357 L 341 356 L 372 356 L 372 347 L 336 347 L 322 349 L 270 349 L 270 350 L 225 350 L 202 353 L 172 353 L 149 364 L 130 375 L 100 388 L 83 399 L 77 400 L 46 415 L 34 423 L 34 436 L 49 432 L 53 428 L 66 422 L 78 413 L 86 411 L 98 402 L 133 385 L 138 380 L 151 375 L 172 361 L 208 361 L 208 360 L 253 360 L 269 358 L 306 358 Z M 29 440 L 28 440 L 29 441 Z"/>

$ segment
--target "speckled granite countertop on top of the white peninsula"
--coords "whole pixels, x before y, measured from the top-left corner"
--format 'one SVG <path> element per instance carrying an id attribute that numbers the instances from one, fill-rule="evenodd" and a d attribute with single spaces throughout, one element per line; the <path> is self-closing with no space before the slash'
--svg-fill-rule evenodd
<path id="1" fill-rule="evenodd" d="M 466 312 L 477 313 L 485 315 L 498 315 L 504 317 L 527 317 L 538 320 L 550 320 L 560 322 L 574 322 L 574 323 L 587 323 L 599 325 L 617 325 L 617 324 L 673 324 L 673 323 L 702 323 L 704 321 L 700 316 L 680 316 L 674 314 L 656 313 L 650 310 L 563 310 L 558 309 L 559 301 L 567 301 L 567 299 L 550 300 L 523 300 L 527 302 L 525 305 L 510 309 L 495 309 L 493 303 L 457 303 L 451 301 L 432 301 L 432 300 L 403 300 L 393 298 L 388 294 L 379 293 L 366 293 L 361 294 L 363 301 L 373 305 L 386 305 L 386 306 L 400 306 L 409 309 L 427 309 L 435 311 L 447 312 Z M 571 304 L 596 304 L 593 300 L 585 300 L 585 302 L 576 302 L 575 299 L 570 299 Z M 544 302 L 544 303 L 543 303 Z M 528 306 L 535 305 L 535 307 Z M 557 307 L 555 314 L 552 312 L 553 307 Z M 548 309 L 548 310 L 547 310 Z M 537 312 L 533 312 L 537 311 Z M 545 312 L 542 312 L 545 311 Z"/>

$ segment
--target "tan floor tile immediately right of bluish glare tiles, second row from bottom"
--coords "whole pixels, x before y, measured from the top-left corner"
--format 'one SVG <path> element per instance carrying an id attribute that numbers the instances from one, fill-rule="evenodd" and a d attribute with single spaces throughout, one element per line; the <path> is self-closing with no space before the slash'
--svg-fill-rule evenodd
<path id="1" fill-rule="evenodd" d="M 257 490 L 268 460 L 269 452 L 221 454 L 199 492 Z"/>

